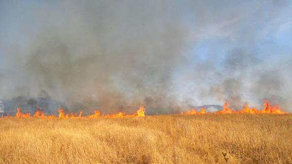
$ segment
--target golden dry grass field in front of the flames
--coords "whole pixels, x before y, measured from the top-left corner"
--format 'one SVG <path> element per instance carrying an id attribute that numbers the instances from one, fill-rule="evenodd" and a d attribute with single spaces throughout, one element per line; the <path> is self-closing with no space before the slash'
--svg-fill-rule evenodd
<path id="1" fill-rule="evenodd" d="M 288 114 L 9 118 L 0 127 L 1 163 L 292 163 Z"/>

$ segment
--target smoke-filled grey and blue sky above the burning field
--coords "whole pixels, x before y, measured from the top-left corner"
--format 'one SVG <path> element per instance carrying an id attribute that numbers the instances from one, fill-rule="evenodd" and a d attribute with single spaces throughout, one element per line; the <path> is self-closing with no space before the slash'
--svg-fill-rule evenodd
<path id="1" fill-rule="evenodd" d="M 292 111 L 292 2 L 1 1 L 0 98 Z"/>

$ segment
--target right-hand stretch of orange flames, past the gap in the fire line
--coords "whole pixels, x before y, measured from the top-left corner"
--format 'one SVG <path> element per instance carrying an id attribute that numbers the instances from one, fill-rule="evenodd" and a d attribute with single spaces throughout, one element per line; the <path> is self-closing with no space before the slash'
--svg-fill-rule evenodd
<path id="1" fill-rule="evenodd" d="M 264 108 L 262 110 L 258 110 L 255 108 L 249 108 L 248 103 L 244 104 L 243 109 L 237 111 L 233 110 L 229 107 L 228 102 L 225 102 L 223 104 L 223 109 L 220 111 L 215 112 L 217 114 L 226 114 L 226 113 L 271 113 L 271 114 L 284 114 L 283 112 L 277 105 L 272 106 L 268 100 L 264 101 Z M 193 115 L 193 114 L 205 114 L 205 109 L 201 109 L 200 112 L 198 112 L 196 109 L 192 110 L 187 110 L 185 113 L 180 112 L 180 114 L 185 114 L 185 115 Z"/>

